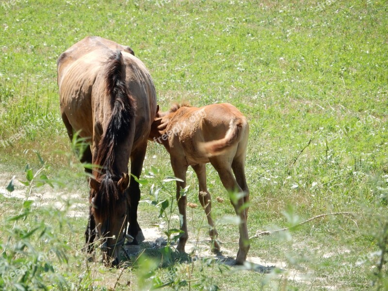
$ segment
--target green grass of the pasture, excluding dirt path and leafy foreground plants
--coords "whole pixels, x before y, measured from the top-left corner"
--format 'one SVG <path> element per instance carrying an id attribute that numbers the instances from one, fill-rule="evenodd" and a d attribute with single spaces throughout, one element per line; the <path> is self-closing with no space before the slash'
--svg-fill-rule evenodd
<path id="1" fill-rule="evenodd" d="M 314 221 L 289 237 L 253 239 L 250 256 L 287 261 L 290 268 L 311 271 L 312 277 L 330 278 L 339 273 L 341 290 L 368 288 L 376 258 L 358 267 L 355 262 L 378 249 L 373 233 L 381 217 L 387 218 L 383 199 L 387 195 L 384 175 L 388 174 L 385 1 L 335 1 L 323 10 L 310 0 L 36 0 L 15 1 L 4 9 L 5 2 L 0 2 L 3 173 L 15 170 L 22 179 L 20 172 L 27 163 L 39 167 L 34 153 L 39 151 L 50 165 L 50 177 L 74 182 L 86 197 L 86 182 L 73 175 L 81 173 L 81 168 L 71 153 L 59 114 L 56 60 L 87 35 L 106 37 L 129 45 L 146 64 L 162 110 L 182 100 L 195 106 L 229 102 L 248 118 L 250 235 L 258 229 L 292 225 L 285 212 L 301 220 L 334 211 L 357 213 L 353 219 L 337 216 Z M 26 134 L 21 135 L 23 130 Z M 12 145 L 2 146 L 3 141 L 10 144 L 11 138 Z M 311 144 L 294 163 L 310 139 Z M 172 175 L 162 146 L 149 144 L 144 166 L 149 169 L 151 165 L 164 176 Z M 188 201 L 198 203 L 193 171 L 188 174 L 188 185 Z M 208 186 L 216 218 L 233 215 L 211 166 Z M 148 191 L 148 186 L 142 188 L 143 198 Z M 216 202 L 217 196 L 225 202 Z M 12 204 L 20 209 L 20 202 L 4 197 L 1 201 L 4 210 Z M 159 222 L 158 214 L 154 207 L 141 204 L 139 216 L 144 225 Z M 40 212 L 36 215 L 45 217 Z M 194 209 L 193 217 L 194 222 L 202 222 L 203 211 Z M 86 218 L 71 223 L 69 243 L 79 249 Z M 0 233 L 6 228 L 1 223 Z M 219 223 L 217 228 L 223 247 L 236 252 L 237 227 Z M 207 237 L 207 230 L 201 235 Z M 349 252 L 336 253 L 338 249 Z M 75 255 L 72 250 L 69 253 Z M 57 268 L 61 266 L 58 263 Z M 352 266 L 352 271 L 338 272 L 348 270 L 342 266 Z M 248 271 L 226 276 L 216 267 L 205 269 L 222 290 L 257 290 L 267 279 L 264 290 L 319 290 L 324 286 L 319 280 L 269 279 Z M 196 263 L 196 279 L 203 274 L 200 270 L 201 264 Z M 77 277 L 81 271 L 70 272 Z M 95 278 L 109 282 L 95 283 L 102 289 L 112 287 L 120 270 L 98 272 L 101 275 Z M 120 284 L 131 281 L 130 288 L 135 288 L 136 274 L 125 272 Z M 157 274 L 163 276 L 166 270 L 158 269 Z M 180 274 L 182 279 L 184 274 Z"/>

